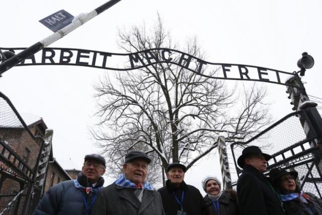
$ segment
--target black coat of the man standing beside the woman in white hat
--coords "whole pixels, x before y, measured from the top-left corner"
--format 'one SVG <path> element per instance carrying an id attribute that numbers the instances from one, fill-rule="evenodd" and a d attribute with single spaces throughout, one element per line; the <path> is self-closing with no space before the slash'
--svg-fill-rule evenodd
<path id="1" fill-rule="evenodd" d="M 157 190 L 161 194 L 166 215 L 177 215 L 178 210 L 181 210 L 181 206 L 177 202 L 173 192 L 181 200 L 182 190 L 185 191 L 183 210 L 187 212 L 187 215 L 209 215 L 206 202 L 196 187 L 187 185 L 183 181 L 178 188 L 170 180 L 167 180 L 165 187 Z"/>

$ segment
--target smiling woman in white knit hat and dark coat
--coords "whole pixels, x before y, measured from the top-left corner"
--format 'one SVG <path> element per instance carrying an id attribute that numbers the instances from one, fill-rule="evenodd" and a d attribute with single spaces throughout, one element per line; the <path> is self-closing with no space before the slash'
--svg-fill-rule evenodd
<path id="1" fill-rule="evenodd" d="M 201 181 L 202 188 L 207 193 L 204 197 L 210 215 L 239 214 L 236 192 L 221 191 L 221 182 L 216 176 L 208 175 Z"/>

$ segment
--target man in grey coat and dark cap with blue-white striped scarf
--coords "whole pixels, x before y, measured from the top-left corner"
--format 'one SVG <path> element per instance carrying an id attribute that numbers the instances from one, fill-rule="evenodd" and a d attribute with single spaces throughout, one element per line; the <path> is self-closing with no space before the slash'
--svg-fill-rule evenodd
<path id="1" fill-rule="evenodd" d="M 95 215 L 165 215 L 160 194 L 145 181 L 151 160 L 144 152 L 126 154 L 123 173 L 102 189 L 93 207 Z"/>

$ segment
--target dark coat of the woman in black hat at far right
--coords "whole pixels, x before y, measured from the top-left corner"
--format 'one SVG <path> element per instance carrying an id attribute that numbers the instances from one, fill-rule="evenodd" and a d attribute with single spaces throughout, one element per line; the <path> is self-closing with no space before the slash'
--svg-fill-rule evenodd
<path id="1" fill-rule="evenodd" d="M 312 193 L 305 193 L 308 196 L 308 205 L 299 198 L 290 201 L 283 201 L 284 208 L 288 215 L 322 215 L 322 200 Z M 311 208 L 312 213 L 307 209 Z"/>

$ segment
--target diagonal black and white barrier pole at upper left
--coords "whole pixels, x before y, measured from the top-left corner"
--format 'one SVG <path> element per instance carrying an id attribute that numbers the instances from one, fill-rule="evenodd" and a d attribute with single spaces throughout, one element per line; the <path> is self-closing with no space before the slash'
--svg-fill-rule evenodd
<path id="1" fill-rule="evenodd" d="M 25 49 L 24 51 L 20 52 L 19 54 L 5 60 L 2 64 L 0 64 L 0 77 L 1 74 L 7 71 L 8 69 L 16 66 L 23 60 L 27 59 L 28 57 L 34 55 L 38 51 L 46 48 L 50 44 L 54 43 L 55 41 L 59 40 L 60 38 L 66 36 L 68 33 L 72 32 L 79 26 L 82 26 L 86 22 L 90 21 L 97 15 L 103 13 L 107 9 L 111 8 L 116 3 L 120 2 L 121 0 L 110 0 L 109 2 L 103 4 L 102 6 L 98 7 L 94 11 L 88 14 L 81 14 L 74 18 L 71 24 L 68 26 L 58 30 L 57 32 L 53 33 L 49 37 L 35 43 L 34 45 L 30 46 L 29 48 Z"/>

